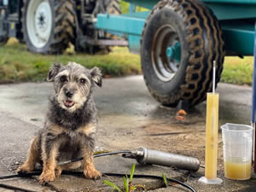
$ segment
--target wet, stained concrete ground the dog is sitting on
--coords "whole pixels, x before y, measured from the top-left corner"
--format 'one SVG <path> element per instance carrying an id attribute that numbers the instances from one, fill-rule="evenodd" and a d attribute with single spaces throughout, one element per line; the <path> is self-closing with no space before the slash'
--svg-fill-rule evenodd
<path id="1" fill-rule="evenodd" d="M 250 124 L 252 89 L 247 86 L 218 84 L 219 125 L 225 123 Z M 44 125 L 48 97 L 52 94 L 50 83 L 26 83 L 0 85 L 0 176 L 13 174 L 17 166 L 26 160 L 26 151 L 35 132 Z M 175 118 L 177 109 L 163 108 L 149 95 L 142 76 L 120 79 L 104 79 L 103 87 L 95 90 L 99 127 L 97 151 L 124 149 L 157 149 L 173 154 L 183 154 L 198 158 L 204 165 L 206 102 L 189 110 L 185 121 Z M 101 172 L 129 173 L 135 160 L 127 160 L 119 155 L 95 159 L 96 168 Z M 174 171 L 168 167 L 141 166 L 136 172 L 177 178 L 189 183 L 197 191 L 240 191 L 256 190 L 256 177 L 248 181 L 233 181 L 224 178 L 224 163 L 219 131 L 218 177 L 224 180 L 219 186 L 198 183 L 204 175 L 199 172 Z M 47 186 L 38 184 L 37 177 L 0 180 L 35 191 L 111 191 L 102 180 L 121 185 L 120 177 L 102 177 L 99 180 L 82 176 L 61 175 Z M 134 179 L 137 189 L 162 191 L 189 191 L 177 184 L 162 188 L 163 183 L 148 179 Z M 1 189 L 0 191 L 8 191 Z M 9 190 L 11 191 L 11 190 Z"/>

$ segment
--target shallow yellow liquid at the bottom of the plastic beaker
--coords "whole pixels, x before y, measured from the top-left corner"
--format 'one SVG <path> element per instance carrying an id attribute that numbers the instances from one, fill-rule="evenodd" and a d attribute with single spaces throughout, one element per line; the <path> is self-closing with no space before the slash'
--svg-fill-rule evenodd
<path id="1" fill-rule="evenodd" d="M 241 160 L 224 161 L 225 177 L 237 180 L 246 180 L 251 177 L 252 164 Z"/>

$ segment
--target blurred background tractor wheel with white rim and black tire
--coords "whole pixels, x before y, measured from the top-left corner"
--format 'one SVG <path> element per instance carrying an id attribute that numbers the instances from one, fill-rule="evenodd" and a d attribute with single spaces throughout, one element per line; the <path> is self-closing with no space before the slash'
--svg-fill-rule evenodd
<path id="1" fill-rule="evenodd" d="M 27 49 L 40 54 L 61 54 L 75 40 L 72 0 L 24 0 L 22 32 Z"/>

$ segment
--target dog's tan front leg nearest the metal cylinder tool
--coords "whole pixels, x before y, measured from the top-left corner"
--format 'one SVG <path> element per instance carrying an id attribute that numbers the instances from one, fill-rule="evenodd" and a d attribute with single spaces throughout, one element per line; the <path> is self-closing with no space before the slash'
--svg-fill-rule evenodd
<path id="1" fill-rule="evenodd" d="M 101 177 L 102 173 L 96 171 L 93 163 L 93 155 L 84 153 L 84 176 L 86 178 L 97 178 Z"/>

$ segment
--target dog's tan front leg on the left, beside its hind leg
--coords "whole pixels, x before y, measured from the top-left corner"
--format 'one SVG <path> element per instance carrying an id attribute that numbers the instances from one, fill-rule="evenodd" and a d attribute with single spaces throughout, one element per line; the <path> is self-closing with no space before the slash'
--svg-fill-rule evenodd
<path id="1" fill-rule="evenodd" d="M 45 143 L 42 145 L 43 172 L 39 177 L 39 183 L 42 184 L 55 180 L 56 156 L 59 150 L 58 142 L 55 142 L 52 146 L 48 146 L 48 150 L 46 150 L 45 145 Z"/>

